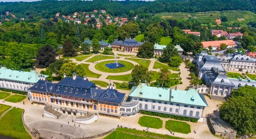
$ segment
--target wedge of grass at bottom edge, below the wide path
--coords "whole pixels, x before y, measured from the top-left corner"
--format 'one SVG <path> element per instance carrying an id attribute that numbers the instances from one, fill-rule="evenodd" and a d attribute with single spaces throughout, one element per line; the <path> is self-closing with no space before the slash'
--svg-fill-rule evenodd
<path id="1" fill-rule="evenodd" d="M 129 134 L 130 133 L 130 134 Z M 183 139 L 175 136 L 167 136 L 141 130 L 116 128 L 116 130 L 104 139 Z"/>

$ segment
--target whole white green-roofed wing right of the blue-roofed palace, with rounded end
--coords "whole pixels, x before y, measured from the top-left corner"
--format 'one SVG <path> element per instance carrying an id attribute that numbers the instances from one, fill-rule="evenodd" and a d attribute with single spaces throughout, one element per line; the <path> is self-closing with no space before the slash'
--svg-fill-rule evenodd
<path id="1" fill-rule="evenodd" d="M 128 102 L 122 102 L 122 116 L 133 116 L 139 110 L 166 113 L 200 119 L 208 107 L 203 94 L 195 89 L 187 91 L 151 87 L 145 83 L 133 86 Z"/>

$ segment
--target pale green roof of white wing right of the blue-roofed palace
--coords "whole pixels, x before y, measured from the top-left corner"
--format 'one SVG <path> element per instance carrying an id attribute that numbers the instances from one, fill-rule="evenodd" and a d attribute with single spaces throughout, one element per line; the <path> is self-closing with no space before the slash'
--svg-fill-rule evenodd
<path id="1" fill-rule="evenodd" d="M 140 85 L 133 86 L 131 88 L 129 96 L 183 103 L 188 105 L 208 106 L 204 95 L 199 94 L 195 89 L 184 91 L 169 88 L 151 87 L 145 85 L 145 83 L 141 83 Z M 194 100 L 192 101 L 192 99 Z"/>

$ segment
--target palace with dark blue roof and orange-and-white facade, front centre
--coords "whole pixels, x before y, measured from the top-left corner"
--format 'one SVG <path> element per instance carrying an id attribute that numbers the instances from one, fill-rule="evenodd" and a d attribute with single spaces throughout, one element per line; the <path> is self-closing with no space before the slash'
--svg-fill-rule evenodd
<path id="1" fill-rule="evenodd" d="M 113 118 L 120 118 L 119 109 L 125 96 L 113 86 L 98 88 L 85 76 L 82 78 L 75 73 L 73 77 L 66 77 L 64 74 L 64 79 L 58 83 L 39 80 L 29 88 L 28 94 L 34 104 L 58 106 L 59 111 L 64 114 L 81 116 L 91 110 Z"/>

